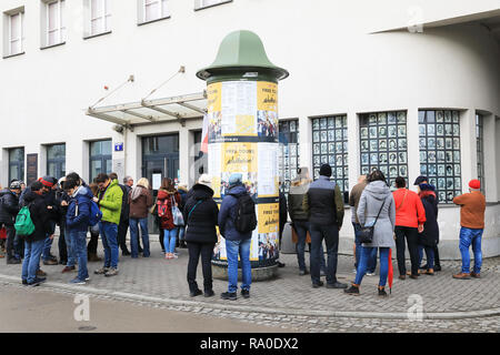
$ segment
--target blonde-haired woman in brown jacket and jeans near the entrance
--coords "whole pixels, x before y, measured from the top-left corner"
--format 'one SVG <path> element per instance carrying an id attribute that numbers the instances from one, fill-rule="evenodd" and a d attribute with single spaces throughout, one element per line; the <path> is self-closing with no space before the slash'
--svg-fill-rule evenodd
<path id="1" fill-rule="evenodd" d="M 129 192 L 130 204 L 130 247 L 131 257 L 139 257 L 139 226 L 141 227 L 142 237 L 142 256 L 149 257 L 149 233 L 148 233 L 148 212 L 153 205 L 150 192 L 149 181 L 146 178 L 139 179 L 137 185 Z"/>

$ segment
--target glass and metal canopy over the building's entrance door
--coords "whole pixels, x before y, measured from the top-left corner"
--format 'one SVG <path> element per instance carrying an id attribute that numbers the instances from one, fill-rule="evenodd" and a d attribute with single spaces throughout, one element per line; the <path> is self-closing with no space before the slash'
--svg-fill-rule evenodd
<path id="1" fill-rule="evenodd" d="M 88 108 L 87 115 L 126 128 L 164 122 L 184 123 L 207 113 L 207 91 L 180 97 Z"/>

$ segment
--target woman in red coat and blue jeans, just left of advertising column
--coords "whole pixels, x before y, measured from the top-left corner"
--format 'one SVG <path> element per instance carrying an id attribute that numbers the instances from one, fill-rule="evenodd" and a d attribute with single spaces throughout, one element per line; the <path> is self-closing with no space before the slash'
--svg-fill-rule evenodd
<path id="1" fill-rule="evenodd" d="M 169 178 L 163 178 L 158 190 L 158 217 L 160 219 L 160 237 L 163 235 L 164 258 L 177 258 L 177 225 L 173 224 L 172 206 L 178 206 L 181 197 Z"/>

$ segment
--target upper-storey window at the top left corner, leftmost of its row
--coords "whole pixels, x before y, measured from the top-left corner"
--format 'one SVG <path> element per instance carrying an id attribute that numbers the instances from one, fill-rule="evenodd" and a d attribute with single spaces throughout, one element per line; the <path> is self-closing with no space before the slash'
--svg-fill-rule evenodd
<path id="1" fill-rule="evenodd" d="M 24 52 L 24 8 L 3 14 L 3 55 L 10 57 Z"/>

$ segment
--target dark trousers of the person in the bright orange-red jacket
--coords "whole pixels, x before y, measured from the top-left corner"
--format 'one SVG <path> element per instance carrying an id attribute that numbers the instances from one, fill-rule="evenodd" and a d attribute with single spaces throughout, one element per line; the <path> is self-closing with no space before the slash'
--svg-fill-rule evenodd
<path id="1" fill-rule="evenodd" d="M 398 256 L 398 268 L 400 275 L 407 274 L 407 266 L 404 264 L 404 239 L 408 243 L 408 251 L 410 253 L 411 274 L 419 274 L 419 231 L 418 229 L 409 226 L 396 226 L 396 253 Z"/>

